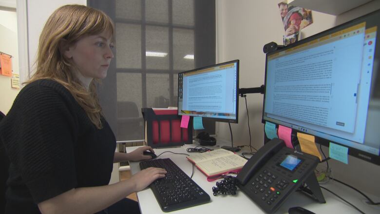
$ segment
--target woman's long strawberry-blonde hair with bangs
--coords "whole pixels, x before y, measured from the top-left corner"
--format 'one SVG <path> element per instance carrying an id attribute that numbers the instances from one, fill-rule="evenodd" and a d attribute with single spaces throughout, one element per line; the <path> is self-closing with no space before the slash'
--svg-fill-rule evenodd
<path id="1" fill-rule="evenodd" d="M 84 36 L 109 32 L 114 41 L 114 24 L 102 11 L 84 5 L 64 5 L 49 17 L 39 37 L 36 73 L 27 81 L 53 79 L 67 88 L 87 116 L 98 128 L 102 128 L 102 111 L 96 95 L 94 79 L 87 90 L 76 77 L 76 66 L 64 57 L 61 42 L 74 45 Z"/>

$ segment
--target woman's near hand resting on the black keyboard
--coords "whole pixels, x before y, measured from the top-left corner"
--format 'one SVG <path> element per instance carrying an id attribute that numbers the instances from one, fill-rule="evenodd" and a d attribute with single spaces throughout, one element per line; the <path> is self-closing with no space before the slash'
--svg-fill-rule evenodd
<path id="1" fill-rule="evenodd" d="M 134 192 L 145 189 L 149 184 L 158 178 L 165 177 L 166 170 L 162 168 L 149 167 L 148 169 L 141 170 L 140 172 L 134 174 L 130 181 L 134 184 Z"/>

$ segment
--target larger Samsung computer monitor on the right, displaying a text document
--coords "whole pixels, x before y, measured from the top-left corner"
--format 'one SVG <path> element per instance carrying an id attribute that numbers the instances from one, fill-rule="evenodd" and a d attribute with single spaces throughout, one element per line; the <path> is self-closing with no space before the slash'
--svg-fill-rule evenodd
<path id="1" fill-rule="evenodd" d="M 380 10 L 266 54 L 263 122 L 380 165 Z"/>

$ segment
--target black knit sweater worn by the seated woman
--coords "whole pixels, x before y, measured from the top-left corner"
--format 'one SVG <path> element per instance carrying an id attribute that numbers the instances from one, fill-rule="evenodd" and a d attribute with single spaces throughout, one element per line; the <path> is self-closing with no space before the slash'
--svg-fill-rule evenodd
<path id="1" fill-rule="evenodd" d="M 10 159 L 6 213 L 39 213 L 37 204 L 78 187 L 107 185 L 115 137 L 97 129 L 70 92 L 53 80 L 25 86 L 0 123 Z"/>

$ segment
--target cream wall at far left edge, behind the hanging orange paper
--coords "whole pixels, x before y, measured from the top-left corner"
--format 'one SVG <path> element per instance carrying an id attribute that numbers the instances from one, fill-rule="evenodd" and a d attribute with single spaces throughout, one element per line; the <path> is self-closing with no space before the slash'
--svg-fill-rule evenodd
<path id="1" fill-rule="evenodd" d="M 0 10 L 0 51 L 12 56 L 12 70 L 19 74 L 16 12 Z M 0 111 L 7 114 L 19 89 L 11 88 L 11 78 L 0 75 Z"/>

